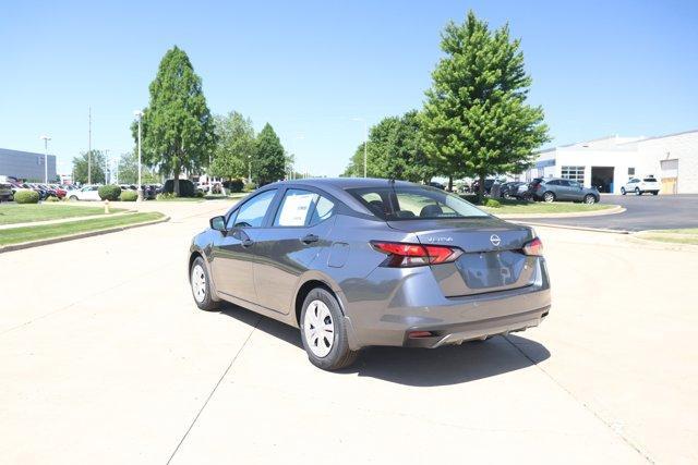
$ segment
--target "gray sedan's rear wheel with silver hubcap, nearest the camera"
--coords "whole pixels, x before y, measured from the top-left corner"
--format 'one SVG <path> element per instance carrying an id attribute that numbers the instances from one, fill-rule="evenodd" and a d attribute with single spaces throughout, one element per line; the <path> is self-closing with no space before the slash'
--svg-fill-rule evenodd
<path id="1" fill-rule="evenodd" d="M 327 330 L 320 330 L 320 322 Z M 337 298 L 323 287 L 305 296 L 299 322 L 303 348 L 311 364 L 324 370 L 338 370 L 353 364 L 358 351 L 349 348 L 347 327 Z"/>

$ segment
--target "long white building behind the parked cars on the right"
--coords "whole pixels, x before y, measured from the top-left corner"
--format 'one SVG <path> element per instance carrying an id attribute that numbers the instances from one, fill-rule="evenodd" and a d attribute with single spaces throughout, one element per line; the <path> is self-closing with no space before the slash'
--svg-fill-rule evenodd
<path id="1" fill-rule="evenodd" d="M 533 178 L 567 178 L 619 194 L 631 178 L 654 176 L 662 194 L 698 193 L 698 131 L 659 137 L 610 136 L 542 150 Z"/>

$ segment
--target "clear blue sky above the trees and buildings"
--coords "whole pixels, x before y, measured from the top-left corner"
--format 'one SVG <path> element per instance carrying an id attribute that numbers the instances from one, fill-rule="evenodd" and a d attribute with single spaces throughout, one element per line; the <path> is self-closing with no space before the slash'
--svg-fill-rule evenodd
<path id="1" fill-rule="evenodd" d="M 60 173 L 92 146 L 134 146 L 164 53 L 184 49 L 214 113 L 270 123 L 297 169 L 338 175 L 364 127 L 419 109 L 440 34 L 468 10 L 521 39 L 553 140 L 698 129 L 696 1 L 0 0 L 0 147 Z"/>

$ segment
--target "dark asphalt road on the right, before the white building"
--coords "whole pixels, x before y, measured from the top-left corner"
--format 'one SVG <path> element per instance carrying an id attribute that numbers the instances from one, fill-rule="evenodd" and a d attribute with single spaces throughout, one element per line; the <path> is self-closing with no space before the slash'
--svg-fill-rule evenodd
<path id="1" fill-rule="evenodd" d="M 604 204 L 621 205 L 618 215 L 580 218 L 555 218 L 534 222 L 624 231 L 698 228 L 698 195 L 604 195 Z"/>

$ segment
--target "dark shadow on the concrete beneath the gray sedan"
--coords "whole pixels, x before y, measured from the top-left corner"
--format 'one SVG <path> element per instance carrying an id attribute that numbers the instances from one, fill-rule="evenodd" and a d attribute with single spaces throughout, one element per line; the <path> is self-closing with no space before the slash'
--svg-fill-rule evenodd
<path id="1" fill-rule="evenodd" d="M 305 356 L 297 328 L 226 304 L 222 314 L 294 345 Z M 338 375 L 358 375 L 412 387 L 459 384 L 504 375 L 550 358 L 544 345 L 520 335 L 495 336 L 438 348 L 366 347 Z"/>

